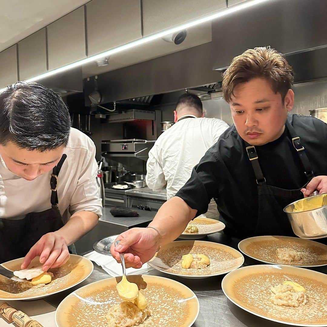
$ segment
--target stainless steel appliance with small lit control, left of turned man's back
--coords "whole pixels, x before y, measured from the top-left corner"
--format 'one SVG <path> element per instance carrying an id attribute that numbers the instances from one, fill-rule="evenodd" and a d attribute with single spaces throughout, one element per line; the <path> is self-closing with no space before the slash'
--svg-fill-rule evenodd
<path id="1" fill-rule="evenodd" d="M 126 140 L 103 140 L 101 142 L 101 151 L 104 157 L 134 157 L 144 161 L 148 159 L 148 153 L 155 141 L 146 141 L 142 139 Z"/>

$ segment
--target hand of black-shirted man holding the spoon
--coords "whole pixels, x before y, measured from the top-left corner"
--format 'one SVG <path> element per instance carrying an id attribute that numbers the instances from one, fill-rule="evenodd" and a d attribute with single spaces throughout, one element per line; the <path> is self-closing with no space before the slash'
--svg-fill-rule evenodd
<path id="1" fill-rule="evenodd" d="M 120 243 L 116 247 L 114 243 L 112 244 L 112 256 L 117 262 L 120 262 L 119 253 L 124 252 L 127 268 L 141 268 L 158 250 L 160 238 L 158 232 L 152 228 L 129 229 L 116 238 L 116 240 L 120 240 Z"/>

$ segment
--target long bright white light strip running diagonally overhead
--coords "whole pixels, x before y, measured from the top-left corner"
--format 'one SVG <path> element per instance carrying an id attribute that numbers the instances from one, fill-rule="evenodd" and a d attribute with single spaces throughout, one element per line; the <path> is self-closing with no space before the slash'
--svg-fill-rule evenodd
<path id="1" fill-rule="evenodd" d="M 149 36 L 145 36 L 142 39 L 138 39 L 136 41 L 133 41 L 133 42 L 130 42 L 130 43 L 127 43 L 127 44 L 124 44 L 124 45 L 120 45 L 120 46 L 118 46 L 116 48 L 113 48 L 111 50 L 107 50 L 107 51 L 101 52 L 101 53 L 99 53 L 97 55 L 90 56 L 88 58 L 81 59 L 81 60 L 78 60 L 78 61 L 73 62 L 71 64 L 65 65 L 63 67 L 50 70 L 50 71 L 48 71 L 46 73 L 43 73 L 41 75 L 29 78 L 26 81 L 30 82 L 30 81 L 35 81 L 35 80 L 40 80 L 40 79 L 43 79 L 43 78 L 46 78 L 46 77 L 50 77 L 50 76 L 53 76 L 55 74 L 62 73 L 62 72 L 66 71 L 66 70 L 69 70 L 71 68 L 75 68 L 75 67 L 84 65 L 86 63 L 89 63 L 89 62 L 92 62 L 92 61 L 95 61 L 95 60 L 99 60 L 99 59 L 107 57 L 107 56 L 112 56 L 113 54 L 116 54 L 118 52 L 131 49 L 133 47 L 136 47 L 136 46 L 151 42 L 153 40 L 160 39 L 165 35 L 169 35 L 169 34 L 172 34 L 172 33 L 175 33 L 175 32 L 179 32 L 179 31 L 181 31 L 183 29 L 187 29 L 187 28 L 190 28 L 190 27 L 193 27 L 193 26 L 197 26 L 197 25 L 212 21 L 212 20 L 214 20 L 216 18 L 219 18 L 219 17 L 227 16 L 229 14 L 232 14 L 232 13 L 236 12 L 236 11 L 246 9 L 246 8 L 258 5 L 258 4 L 262 3 L 262 2 L 266 2 L 266 1 L 268 1 L 268 0 L 249 0 L 249 1 L 246 1 L 246 2 L 241 3 L 239 5 L 235 5 L 232 8 L 222 9 L 222 10 L 220 10 L 218 12 L 213 13 L 213 14 L 205 15 L 205 16 L 203 16 L 201 18 L 194 19 L 194 20 L 192 20 L 192 21 L 190 21 L 188 23 L 181 24 L 181 25 L 166 29 L 166 30 L 164 30 L 162 32 L 158 32 L 158 33 L 149 35 Z M 0 93 L 2 93 L 5 90 L 6 90 L 6 88 L 1 89 Z"/>

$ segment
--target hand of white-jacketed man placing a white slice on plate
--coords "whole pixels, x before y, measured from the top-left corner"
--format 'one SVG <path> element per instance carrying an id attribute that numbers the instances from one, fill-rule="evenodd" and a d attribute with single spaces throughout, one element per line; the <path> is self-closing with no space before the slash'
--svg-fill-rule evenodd
<path id="1" fill-rule="evenodd" d="M 64 238 L 58 232 L 44 234 L 26 254 L 21 269 L 26 269 L 31 261 L 40 256 L 43 271 L 64 265 L 69 259 L 69 252 Z"/>

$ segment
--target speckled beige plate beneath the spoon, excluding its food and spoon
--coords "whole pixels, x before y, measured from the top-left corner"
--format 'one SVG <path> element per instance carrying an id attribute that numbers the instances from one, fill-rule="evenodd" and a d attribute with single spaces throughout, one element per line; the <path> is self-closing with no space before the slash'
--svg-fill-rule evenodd
<path id="1" fill-rule="evenodd" d="M 132 275 L 148 301 L 151 316 L 142 327 L 190 327 L 198 317 L 199 302 L 185 285 L 174 280 L 148 275 Z M 122 301 L 116 284 L 121 277 L 112 277 L 83 286 L 68 295 L 58 306 L 58 327 L 106 327 L 108 309 Z"/>

